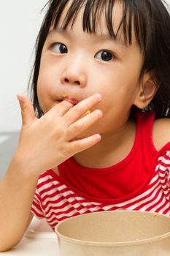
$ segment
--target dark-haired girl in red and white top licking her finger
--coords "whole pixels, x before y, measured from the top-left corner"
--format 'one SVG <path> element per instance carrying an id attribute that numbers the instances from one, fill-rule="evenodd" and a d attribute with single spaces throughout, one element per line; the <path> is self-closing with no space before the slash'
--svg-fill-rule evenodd
<path id="1" fill-rule="evenodd" d="M 50 0 L 0 184 L 0 250 L 33 214 L 170 214 L 170 18 L 161 0 Z"/>

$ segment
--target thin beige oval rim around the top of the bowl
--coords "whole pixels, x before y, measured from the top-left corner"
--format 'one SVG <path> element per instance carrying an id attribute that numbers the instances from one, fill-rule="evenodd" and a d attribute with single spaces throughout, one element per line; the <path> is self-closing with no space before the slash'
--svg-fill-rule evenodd
<path id="1" fill-rule="evenodd" d="M 148 211 L 128 211 L 128 210 L 117 210 L 119 212 L 128 212 L 128 213 L 142 213 L 142 214 L 152 214 L 153 216 L 157 217 L 157 216 L 161 216 L 161 217 L 165 217 L 167 219 L 170 219 L 170 217 L 168 217 L 167 215 L 165 214 L 157 214 L 155 212 L 148 212 Z M 80 215 L 77 215 L 77 216 L 74 216 L 72 217 L 72 219 L 74 218 L 77 218 L 77 217 L 82 217 L 82 216 L 87 216 L 87 215 L 90 215 L 90 214 L 104 214 L 104 213 L 114 213 L 114 212 L 117 212 L 117 211 L 97 211 L 97 212 L 93 212 L 93 213 L 89 213 L 89 214 L 80 214 Z M 155 215 L 156 214 L 156 215 Z M 159 235 L 159 236 L 154 236 L 152 238 L 144 238 L 144 239 L 141 239 L 141 240 L 132 240 L 132 241 L 121 241 L 121 242 L 102 242 L 102 241 L 84 241 L 84 240 L 79 240 L 79 239 L 75 239 L 75 238 L 69 238 L 67 236 L 63 236 L 61 235 L 61 233 L 58 232 L 58 227 L 60 225 L 62 225 L 63 222 L 66 222 L 67 220 L 69 221 L 69 219 L 71 218 L 68 218 L 68 219 L 63 219 L 61 222 L 58 222 L 57 225 L 55 225 L 55 234 L 57 235 L 58 238 L 62 238 L 64 241 L 68 241 L 69 243 L 72 243 L 72 244 L 84 244 L 84 245 L 93 245 L 93 246 L 132 246 L 132 245 L 137 245 L 137 244 L 150 244 L 150 243 L 153 243 L 155 241 L 161 241 L 165 238 L 168 238 L 170 237 L 170 230 L 169 232 L 167 233 L 164 233 L 162 235 Z M 169 220 L 170 221 L 170 220 Z"/>

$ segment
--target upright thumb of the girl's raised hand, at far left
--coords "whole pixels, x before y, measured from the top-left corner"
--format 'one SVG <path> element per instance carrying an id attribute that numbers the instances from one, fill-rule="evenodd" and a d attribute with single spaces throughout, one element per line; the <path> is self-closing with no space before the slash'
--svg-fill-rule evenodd
<path id="1" fill-rule="evenodd" d="M 25 94 L 17 94 L 17 97 L 20 103 L 23 124 L 29 124 L 36 118 L 31 99 L 29 99 Z"/>

